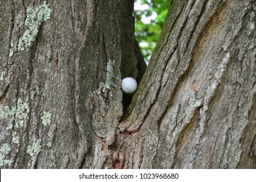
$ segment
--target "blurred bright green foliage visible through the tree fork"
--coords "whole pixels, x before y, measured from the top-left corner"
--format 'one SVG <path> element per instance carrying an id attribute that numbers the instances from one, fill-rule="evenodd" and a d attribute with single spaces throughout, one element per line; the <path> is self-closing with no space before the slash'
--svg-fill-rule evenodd
<path id="1" fill-rule="evenodd" d="M 169 0 L 135 0 L 135 36 L 146 62 L 149 61 L 169 7 Z"/>

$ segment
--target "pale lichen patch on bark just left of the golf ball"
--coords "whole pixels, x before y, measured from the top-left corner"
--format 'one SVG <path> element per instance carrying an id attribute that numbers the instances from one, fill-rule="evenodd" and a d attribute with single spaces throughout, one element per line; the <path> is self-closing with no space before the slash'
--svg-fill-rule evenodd
<path id="1" fill-rule="evenodd" d="M 107 72 L 106 72 L 106 82 L 100 83 L 98 87 L 98 94 L 100 92 L 105 92 L 107 89 L 111 88 L 111 86 L 115 86 L 113 83 L 113 78 L 115 77 L 113 72 L 113 66 L 115 65 L 115 60 L 108 60 L 107 62 Z"/>

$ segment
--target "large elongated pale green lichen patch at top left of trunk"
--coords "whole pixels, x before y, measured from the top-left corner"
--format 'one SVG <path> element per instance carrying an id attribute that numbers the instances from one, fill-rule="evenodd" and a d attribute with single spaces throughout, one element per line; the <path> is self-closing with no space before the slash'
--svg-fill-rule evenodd
<path id="1" fill-rule="evenodd" d="M 46 5 L 46 1 L 38 8 L 33 10 L 31 7 L 27 8 L 27 18 L 25 20 L 25 30 L 23 36 L 21 36 L 18 51 L 22 51 L 25 47 L 28 47 L 35 41 L 36 35 L 38 34 L 38 28 L 43 21 L 50 19 L 51 9 L 49 5 Z"/>

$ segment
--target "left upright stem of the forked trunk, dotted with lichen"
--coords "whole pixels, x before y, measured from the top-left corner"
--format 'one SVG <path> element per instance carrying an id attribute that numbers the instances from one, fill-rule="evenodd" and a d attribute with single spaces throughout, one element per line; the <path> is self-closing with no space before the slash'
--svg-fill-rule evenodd
<path id="1" fill-rule="evenodd" d="M 139 81 L 146 68 L 133 1 L 49 1 L 50 19 L 33 14 L 35 42 L 21 50 L 33 29 L 27 8 L 43 4 L 1 1 L 1 168 L 102 168 L 122 116 L 121 79 Z"/>

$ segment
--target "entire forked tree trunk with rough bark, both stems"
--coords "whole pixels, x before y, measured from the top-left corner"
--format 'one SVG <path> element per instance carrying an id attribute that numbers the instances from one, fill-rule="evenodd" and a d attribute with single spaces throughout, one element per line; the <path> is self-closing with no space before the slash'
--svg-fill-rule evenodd
<path id="1" fill-rule="evenodd" d="M 171 1 L 144 75 L 132 10 L 1 2 L 1 168 L 256 168 L 256 2 Z"/>

